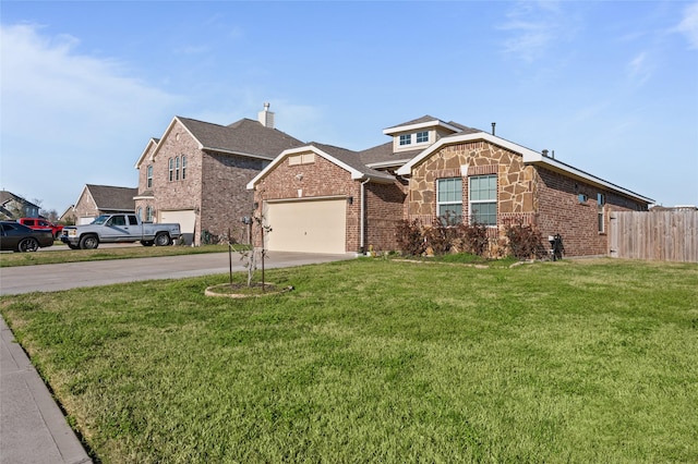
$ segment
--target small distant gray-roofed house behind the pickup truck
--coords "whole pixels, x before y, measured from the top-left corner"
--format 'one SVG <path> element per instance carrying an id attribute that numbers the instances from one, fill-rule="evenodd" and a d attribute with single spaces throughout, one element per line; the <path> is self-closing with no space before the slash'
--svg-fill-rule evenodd
<path id="1" fill-rule="evenodd" d="M 88 224 L 97 216 L 110 212 L 134 212 L 133 197 L 137 192 L 135 187 L 86 184 L 73 207 L 75 223 Z"/>

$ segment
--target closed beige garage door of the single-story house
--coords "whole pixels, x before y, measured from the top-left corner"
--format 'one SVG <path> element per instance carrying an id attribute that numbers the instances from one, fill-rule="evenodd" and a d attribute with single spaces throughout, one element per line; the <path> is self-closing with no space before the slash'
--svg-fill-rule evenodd
<path id="1" fill-rule="evenodd" d="M 267 249 L 302 253 L 346 253 L 347 200 L 322 199 L 267 204 L 272 232 Z"/>

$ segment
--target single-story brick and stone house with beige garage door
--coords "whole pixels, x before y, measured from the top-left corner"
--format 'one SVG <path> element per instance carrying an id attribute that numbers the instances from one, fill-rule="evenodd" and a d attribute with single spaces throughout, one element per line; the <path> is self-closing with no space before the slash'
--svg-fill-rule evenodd
<path id="1" fill-rule="evenodd" d="M 448 213 L 503 234 L 506 224 L 559 233 L 566 255 L 605 255 L 611 210 L 651 198 L 542 154 L 454 122 L 423 117 L 383 131 L 390 143 L 350 151 L 309 144 L 281 152 L 256 175 L 257 213 L 269 251 L 396 249 L 396 225 Z"/>

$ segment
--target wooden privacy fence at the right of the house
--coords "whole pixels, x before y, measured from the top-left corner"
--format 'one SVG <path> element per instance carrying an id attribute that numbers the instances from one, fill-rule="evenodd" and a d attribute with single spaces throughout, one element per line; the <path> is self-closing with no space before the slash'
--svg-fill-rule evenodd
<path id="1" fill-rule="evenodd" d="M 698 262 L 698 210 L 611 211 L 613 258 Z"/>

